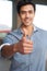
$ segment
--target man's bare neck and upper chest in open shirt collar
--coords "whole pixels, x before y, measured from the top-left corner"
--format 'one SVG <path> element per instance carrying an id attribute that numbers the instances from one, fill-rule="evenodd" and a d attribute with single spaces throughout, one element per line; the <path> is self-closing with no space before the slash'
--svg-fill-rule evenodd
<path id="1" fill-rule="evenodd" d="M 26 33 L 28 36 L 31 36 L 34 31 L 34 25 L 33 24 L 31 24 L 28 26 L 22 25 L 21 29 L 24 31 L 24 33 Z"/>

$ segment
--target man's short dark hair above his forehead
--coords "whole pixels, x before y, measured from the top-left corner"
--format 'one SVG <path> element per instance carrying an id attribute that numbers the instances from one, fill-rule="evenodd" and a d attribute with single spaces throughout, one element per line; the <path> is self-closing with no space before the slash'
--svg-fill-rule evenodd
<path id="1" fill-rule="evenodd" d="M 33 3 L 32 0 L 20 0 L 16 5 L 17 13 L 20 13 L 21 7 L 26 5 L 26 4 L 32 4 L 34 8 L 34 12 L 35 12 L 36 10 L 35 3 Z"/>

